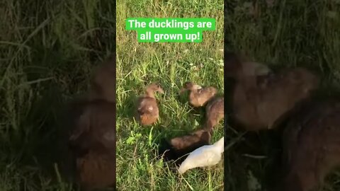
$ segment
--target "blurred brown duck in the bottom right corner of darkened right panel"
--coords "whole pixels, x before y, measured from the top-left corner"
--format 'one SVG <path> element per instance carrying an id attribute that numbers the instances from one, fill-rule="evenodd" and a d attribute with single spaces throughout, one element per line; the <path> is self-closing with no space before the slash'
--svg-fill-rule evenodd
<path id="1" fill-rule="evenodd" d="M 307 103 L 294 112 L 283 133 L 283 170 L 278 190 L 318 190 L 340 165 L 340 102 Z"/>

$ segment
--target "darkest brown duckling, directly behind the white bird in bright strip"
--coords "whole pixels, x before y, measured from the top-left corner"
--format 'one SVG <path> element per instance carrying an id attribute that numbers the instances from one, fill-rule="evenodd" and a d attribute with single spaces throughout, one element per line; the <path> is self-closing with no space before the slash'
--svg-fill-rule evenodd
<path id="1" fill-rule="evenodd" d="M 212 132 L 207 129 L 198 129 L 191 134 L 165 141 L 161 144 L 159 154 L 164 154 L 165 161 L 174 160 L 175 164 L 179 166 L 186 159 L 186 154 L 200 146 L 210 144 L 211 137 Z"/>

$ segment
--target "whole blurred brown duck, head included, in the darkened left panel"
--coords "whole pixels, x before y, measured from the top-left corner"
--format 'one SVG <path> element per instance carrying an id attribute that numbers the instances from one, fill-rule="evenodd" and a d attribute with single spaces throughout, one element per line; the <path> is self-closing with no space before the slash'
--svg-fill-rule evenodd
<path id="1" fill-rule="evenodd" d="M 86 100 L 74 105 L 69 149 L 82 190 L 115 187 L 115 72 L 110 60 L 102 64 Z"/>

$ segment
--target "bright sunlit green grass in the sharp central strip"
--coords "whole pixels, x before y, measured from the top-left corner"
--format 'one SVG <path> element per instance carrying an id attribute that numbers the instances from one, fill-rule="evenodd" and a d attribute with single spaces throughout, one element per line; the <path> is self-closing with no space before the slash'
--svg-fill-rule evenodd
<path id="1" fill-rule="evenodd" d="M 125 30 L 129 17 L 216 18 L 217 30 L 205 32 L 202 43 L 138 43 Z M 119 190 L 222 190 L 223 164 L 210 170 L 171 172 L 171 163 L 156 158 L 162 138 L 171 139 L 200 128 L 204 112 L 193 111 L 179 89 L 185 81 L 212 85 L 223 93 L 223 2 L 117 2 L 117 186 Z M 147 84 L 157 82 L 160 119 L 141 127 L 132 118 L 133 104 Z M 213 141 L 222 137 L 222 123 Z"/>

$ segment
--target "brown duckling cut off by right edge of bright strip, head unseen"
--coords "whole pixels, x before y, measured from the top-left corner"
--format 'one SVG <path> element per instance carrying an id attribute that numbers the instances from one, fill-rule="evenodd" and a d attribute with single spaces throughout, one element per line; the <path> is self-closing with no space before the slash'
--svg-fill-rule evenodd
<path id="1" fill-rule="evenodd" d="M 220 120 L 225 117 L 225 98 L 212 98 L 205 108 L 206 125 L 205 128 L 211 130 Z"/>

